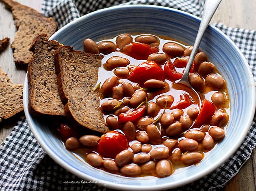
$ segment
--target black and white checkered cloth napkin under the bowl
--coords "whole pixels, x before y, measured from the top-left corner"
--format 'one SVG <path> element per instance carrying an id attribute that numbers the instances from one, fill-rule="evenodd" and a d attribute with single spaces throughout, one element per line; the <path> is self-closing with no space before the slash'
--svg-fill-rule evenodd
<path id="1" fill-rule="evenodd" d="M 59 28 L 70 21 L 100 8 L 117 4 L 154 4 L 177 8 L 201 16 L 204 0 L 43 0 L 42 12 L 53 17 Z M 256 31 L 228 28 L 215 24 L 227 34 L 245 55 L 256 80 Z M 175 190 L 219 190 L 249 159 L 256 146 L 256 118 L 243 144 L 217 170 L 194 183 Z M 0 189 L 20 190 L 111 190 L 80 178 L 56 164 L 33 137 L 25 117 L 14 127 L 0 146 Z"/>

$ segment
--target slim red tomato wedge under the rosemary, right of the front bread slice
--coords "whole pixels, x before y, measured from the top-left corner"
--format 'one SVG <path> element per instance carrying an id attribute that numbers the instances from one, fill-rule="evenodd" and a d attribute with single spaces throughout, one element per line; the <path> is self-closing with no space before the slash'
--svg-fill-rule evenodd
<path id="1" fill-rule="evenodd" d="M 137 110 L 128 110 L 126 113 L 121 113 L 118 115 L 118 123 L 125 123 L 128 121 L 136 121 L 144 116 L 146 107 L 142 106 Z"/>

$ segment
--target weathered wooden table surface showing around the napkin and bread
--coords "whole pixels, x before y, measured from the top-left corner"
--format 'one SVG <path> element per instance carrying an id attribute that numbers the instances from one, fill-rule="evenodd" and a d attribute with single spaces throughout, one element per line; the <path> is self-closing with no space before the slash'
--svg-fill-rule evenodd
<path id="1" fill-rule="evenodd" d="M 40 11 L 42 0 L 17 0 L 22 4 Z M 221 22 L 229 27 L 238 27 L 256 30 L 256 0 L 222 0 L 216 11 L 212 23 Z M 11 38 L 13 41 L 15 26 L 12 14 L 0 3 L 0 39 Z M 0 66 L 9 74 L 13 83 L 23 83 L 26 70 L 17 68 L 13 62 L 13 52 L 9 46 L 0 55 Z M 22 115 L 22 114 L 21 114 Z M 0 143 L 11 132 L 18 117 L 0 123 Z M 256 151 L 240 169 L 239 173 L 224 187 L 225 191 L 256 191 Z"/>

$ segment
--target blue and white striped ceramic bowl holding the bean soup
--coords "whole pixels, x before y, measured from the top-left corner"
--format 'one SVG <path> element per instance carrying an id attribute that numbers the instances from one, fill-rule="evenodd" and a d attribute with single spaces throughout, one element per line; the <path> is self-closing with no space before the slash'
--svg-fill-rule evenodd
<path id="1" fill-rule="evenodd" d="M 152 33 L 169 36 L 193 45 L 200 19 L 162 6 L 115 6 L 87 14 L 57 31 L 51 39 L 82 50 L 85 38 L 95 41 L 121 33 Z M 207 53 L 227 82 L 230 95 L 230 122 L 226 137 L 197 166 L 177 170 L 166 178 L 128 178 L 93 168 L 67 151 L 48 128 L 28 113 L 28 83 L 24 83 L 24 110 L 30 129 L 43 149 L 63 168 L 95 183 L 122 190 L 174 188 L 209 174 L 224 163 L 244 140 L 255 112 L 255 84 L 249 66 L 239 49 L 220 30 L 209 26 L 200 49 Z"/>

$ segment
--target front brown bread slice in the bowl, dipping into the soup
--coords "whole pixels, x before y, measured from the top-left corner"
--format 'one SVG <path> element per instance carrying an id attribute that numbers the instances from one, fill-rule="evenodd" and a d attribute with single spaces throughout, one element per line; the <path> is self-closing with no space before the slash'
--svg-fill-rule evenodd
<path id="1" fill-rule="evenodd" d="M 101 55 L 61 46 L 54 53 L 61 100 L 65 114 L 71 114 L 80 125 L 94 131 L 109 131 L 100 111 L 99 95 L 93 91 L 98 81 Z"/>

